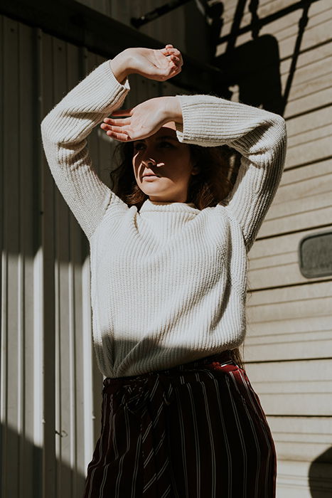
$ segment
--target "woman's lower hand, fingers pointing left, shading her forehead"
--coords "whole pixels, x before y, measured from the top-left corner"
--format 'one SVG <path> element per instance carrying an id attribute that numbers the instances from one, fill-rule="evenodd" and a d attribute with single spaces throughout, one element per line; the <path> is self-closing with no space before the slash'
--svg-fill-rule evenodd
<path id="1" fill-rule="evenodd" d="M 132 109 L 113 111 L 112 116 L 120 119 L 105 117 L 100 127 L 109 137 L 120 142 L 151 137 L 167 122 L 182 122 L 181 105 L 177 97 L 155 97 Z"/>

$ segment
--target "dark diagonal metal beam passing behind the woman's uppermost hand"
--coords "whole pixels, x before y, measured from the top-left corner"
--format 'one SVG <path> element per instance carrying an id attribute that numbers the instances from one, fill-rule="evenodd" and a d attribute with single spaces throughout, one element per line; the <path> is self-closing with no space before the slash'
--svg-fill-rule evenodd
<path id="1" fill-rule="evenodd" d="M 161 41 L 75 0 L 1 0 L 0 13 L 77 46 L 84 46 L 106 58 L 114 57 L 124 48 L 164 46 Z M 165 43 L 171 43 L 171 40 Z M 186 54 L 183 54 L 183 61 L 183 70 L 171 80 L 174 85 L 193 92 L 208 93 L 218 92 L 225 84 L 220 69 Z"/>

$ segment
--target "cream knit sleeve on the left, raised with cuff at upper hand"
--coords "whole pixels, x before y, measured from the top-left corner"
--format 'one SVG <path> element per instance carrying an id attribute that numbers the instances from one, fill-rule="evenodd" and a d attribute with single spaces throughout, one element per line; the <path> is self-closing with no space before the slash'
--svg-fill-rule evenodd
<path id="1" fill-rule="evenodd" d="M 117 81 L 109 60 L 63 97 L 41 123 L 45 156 L 63 198 L 90 238 L 110 204 L 123 203 L 97 176 L 87 135 L 119 108 L 130 90 Z"/>

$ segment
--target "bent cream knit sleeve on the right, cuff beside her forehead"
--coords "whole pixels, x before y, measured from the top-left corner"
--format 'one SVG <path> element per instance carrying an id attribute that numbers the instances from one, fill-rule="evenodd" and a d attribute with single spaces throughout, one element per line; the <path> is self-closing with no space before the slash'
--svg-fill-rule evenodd
<path id="1" fill-rule="evenodd" d="M 202 147 L 227 144 L 242 155 L 235 186 L 223 204 L 240 223 L 250 250 L 284 169 L 284 118 L 213 95 L 178 98 L 183 114 L 183 124 L 176 124 L 180 142 Z"/>

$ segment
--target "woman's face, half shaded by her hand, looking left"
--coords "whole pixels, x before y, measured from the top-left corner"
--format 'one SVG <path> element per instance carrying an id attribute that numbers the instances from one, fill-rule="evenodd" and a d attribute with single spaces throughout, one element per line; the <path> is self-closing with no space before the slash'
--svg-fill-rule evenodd
<path id="1" fill-rule="evenodd" d="M 154 135 L 135 140 L 133 145 L 136 182 L 150 201 L 186 202 L 189 180 L 198 171 L 188 144 L 178 142 L 175 123 L 164 124 Z"/>

